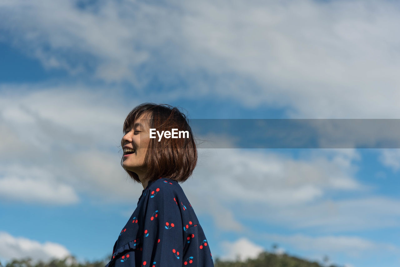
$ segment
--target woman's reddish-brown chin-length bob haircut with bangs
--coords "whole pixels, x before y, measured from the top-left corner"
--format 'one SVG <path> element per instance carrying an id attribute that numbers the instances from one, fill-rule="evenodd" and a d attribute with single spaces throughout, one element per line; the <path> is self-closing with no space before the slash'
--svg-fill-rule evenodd
<path id="1" fill-rule="evenodd" d="M 173 128 L 189 132 L 189 138 L 161 138 L 160 141 L 158 138 L 150 138 L 144 157 L 144 165 L 147 166 L 144 179 L 150 178 L 151 181 L 155 181 L 164 177 L 177 182 L 186 181 L 192 175 L 197 163 L 196 143 L 186 116 L 178 108 L 168 104 L 143 103 L 136 106 L 126 116 L 123 132 L 125 133 L 127 128 L 133 126 L 142 114 L 149 116 L 149 119 L 145 120 L 148 122 L 148 127 L 159 132 L 171 132 Z M 123 167 L 122 162 L 123 157 L 121 159 Z M 127 169 L 125 171 L 132 179 L 141 183 L 136 173 Z"/>

